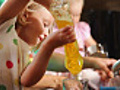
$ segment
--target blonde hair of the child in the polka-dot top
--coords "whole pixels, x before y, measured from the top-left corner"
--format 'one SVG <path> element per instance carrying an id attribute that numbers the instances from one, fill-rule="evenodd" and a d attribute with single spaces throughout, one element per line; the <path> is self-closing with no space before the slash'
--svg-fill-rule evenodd
<path id="1" fill-rule="evenodd" d="M 35 12 L 38 9 L 45 9 L 45 7 L 43 7 L 42 5 L 34 2 L 34 1 L 30 1 L 27 6 L 18 14 L 17 16 L 17 21 L 16 21 L 16 28 L 19 26 L 24 26 L 27 23 L 27 17 L 28 14 L 27 12 Z"/>

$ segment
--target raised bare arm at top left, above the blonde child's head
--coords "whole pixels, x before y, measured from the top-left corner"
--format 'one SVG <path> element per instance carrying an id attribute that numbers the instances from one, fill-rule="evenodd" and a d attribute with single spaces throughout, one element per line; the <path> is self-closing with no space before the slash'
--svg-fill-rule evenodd
<path id="1" fill-rule="evenodd" d="M 30 0 L 8 0 L 2 8 L 0 8 L 0 25 L 6 20 L 15 17 L 20 11 L 24 9 Z M 35 0 L 36 2 L 49 8 L 52 0 Z"/>

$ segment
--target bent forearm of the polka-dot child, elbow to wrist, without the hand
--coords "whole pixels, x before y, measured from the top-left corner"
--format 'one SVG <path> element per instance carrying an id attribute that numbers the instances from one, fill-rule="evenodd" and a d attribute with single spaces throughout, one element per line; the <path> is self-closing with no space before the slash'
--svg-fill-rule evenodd
<path id="1" fill-rule="evenodd" d="M 54 51 L 54 48 L 48 46 L 49 44 L 50 42 L 47 40 L 41 44 L 40 50 L 34 57 L 34 60 L 23 72 L 21 76 L 21 84 L 23 86 L 29 87 L 34 85 L 42 78 L 49 62 L 49 58 Z"/>

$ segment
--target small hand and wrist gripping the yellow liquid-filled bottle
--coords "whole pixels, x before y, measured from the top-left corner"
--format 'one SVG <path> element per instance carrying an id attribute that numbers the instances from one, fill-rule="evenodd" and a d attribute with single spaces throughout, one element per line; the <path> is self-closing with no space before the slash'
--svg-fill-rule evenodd
<path id="1" fill-rule="evenodd" d="M 49 45 L 53 48 L 74 42 L 76 40 L 73 27 L 67 26 L 61 30 L 51 33 L 47 38 Z"/>

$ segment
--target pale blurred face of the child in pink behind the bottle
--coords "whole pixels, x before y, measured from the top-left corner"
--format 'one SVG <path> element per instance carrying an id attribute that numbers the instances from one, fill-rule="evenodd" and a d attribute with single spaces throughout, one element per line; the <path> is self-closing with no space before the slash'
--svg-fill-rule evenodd
<path id="1" fill-rule="evenodd" d="M 71 4 L 70 13 L 74 23 L 78 23 L 81 18 L 83 5 L 81 3 L 74 2 Z"/>

